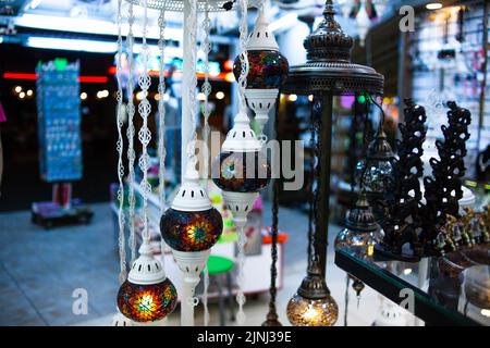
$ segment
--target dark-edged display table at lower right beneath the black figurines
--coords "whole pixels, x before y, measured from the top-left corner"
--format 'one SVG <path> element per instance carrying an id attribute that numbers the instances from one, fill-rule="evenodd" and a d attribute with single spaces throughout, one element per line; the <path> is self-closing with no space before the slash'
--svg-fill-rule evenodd
<path id="1" fill-rule="evenodd" d="M 481 302 L 477 303 L 468 296 L 474 281 L 467 271 L 471 268 L 449 274 L 443 265 L 446 262 L 441 262 L 441 258 L 424 258 L 417 263 L 376 256 L 366 259 L 348 248 L 335 251 L 335 264 L 405 309 L 411 306 L 409 294 L 413 291 L 413 314 L 426 325 L 490 325 L 490 318 L 486 315 L 488 307 L 481 307 Z M 474 265 L 478 266 L 478 263 Z M 483 272 L 488 274 L 486 270 Z M 490 291 L 488 285 L 480 296 Z"/>

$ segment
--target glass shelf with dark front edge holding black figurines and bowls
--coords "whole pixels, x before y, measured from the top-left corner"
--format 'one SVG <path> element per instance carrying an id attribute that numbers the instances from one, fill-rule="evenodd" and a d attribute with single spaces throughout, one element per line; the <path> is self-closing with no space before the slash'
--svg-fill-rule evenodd
<path id="1" fill-rule="evenodd" d="M 416 263 L 335 251 L 340 269 L 409 311 L 413 304 L 412 313 L 428 326 L 490 325 L 489 259 L 489 245 Z"/>

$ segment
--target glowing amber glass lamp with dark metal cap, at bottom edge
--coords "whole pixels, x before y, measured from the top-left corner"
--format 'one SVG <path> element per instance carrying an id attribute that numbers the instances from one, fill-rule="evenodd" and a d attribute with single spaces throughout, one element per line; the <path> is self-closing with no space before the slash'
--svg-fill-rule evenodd
<path id="1" fill-rule="evenodd" d="M 311 261 L 307 276 L 287 302 L 286 314 L 294 326 L 332 326 L 339 316 L 339 307 L 321 275 L 318 261 Z"/>

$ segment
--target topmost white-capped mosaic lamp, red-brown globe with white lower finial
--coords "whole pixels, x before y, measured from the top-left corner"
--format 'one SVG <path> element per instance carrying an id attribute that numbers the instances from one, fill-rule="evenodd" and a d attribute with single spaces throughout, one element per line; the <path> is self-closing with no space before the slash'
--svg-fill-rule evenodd
<path id="1" fill-rule="evenodd" d="M 259 11 L 247 46 L 248 75 L 245 97 L 248 107 L 255 112 L 255 121 L 259 126 L 259 139 L 265 141 L 264 126 L 269 120 L 269 111 L 274 107 L 279 88 L 285 83 L 289 72 L 287 60 L 279 52 L 279 46 L 273 33 L 269 29 L 269 22 L 264 14 L 264 7 Z M 241 75 L 241 58 L 235 59 L 233 73 L 236 80 Z"/>

